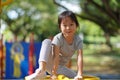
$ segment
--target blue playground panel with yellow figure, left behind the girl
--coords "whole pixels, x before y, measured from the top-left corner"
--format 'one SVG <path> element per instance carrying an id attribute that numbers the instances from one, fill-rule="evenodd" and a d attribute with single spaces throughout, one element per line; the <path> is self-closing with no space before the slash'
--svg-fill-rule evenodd
<path id="1" fill-rule="evenodd" d="M 3 79 L 23 79 L 26 75 L 28 75 L 28 68 L 29 68 L 28 54 L 29 54 L 30 43 L 20 42 L 20 44 L 23 48 L 23 53 L 22 53 L 23 60 L 16 65 L 14 65 L 14 62 L 15 62 L 15 60 L 17 61 L 18 58 L 16 57 L 16 59 L 13 59 L 12 58 L 13 54 L 11 52 L 11 48 L 12 48 L 13 44 L 14 43 L 9 43 L 9 42 L 5 43 L 6 66 L 5 66 L 5 76 Z M 34 57 L 33 57 L 34 58 L 34 70 L 36 68 L 38 68 L 38 58 L 39 58 L 40 48 L 41 48 L 41 42 L 35 42 L 34 43 L 34 53 L 33 53 L 34 54 Z M 15 53 L 15 54 L 19 54 L 19 53 Z M 19 73 L 18 73 L 18 69 L 17 69 L 18 65 L 19 65 Z M 17 74 L 14 74 L 15 73 L 14 67 L 16 67 Z"/>

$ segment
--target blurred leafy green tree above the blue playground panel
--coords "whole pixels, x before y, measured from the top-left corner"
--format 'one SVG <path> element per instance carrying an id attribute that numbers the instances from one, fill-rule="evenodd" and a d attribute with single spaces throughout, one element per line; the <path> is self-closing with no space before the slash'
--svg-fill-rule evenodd
<path id="1" fill-rule="evenodd" d="M 57 7 L 51 0 L 14 0 L 2 8 L 1 15 L 7 29 L 23 40 L 31 32 L 38 41 L 58 32 Z"/>

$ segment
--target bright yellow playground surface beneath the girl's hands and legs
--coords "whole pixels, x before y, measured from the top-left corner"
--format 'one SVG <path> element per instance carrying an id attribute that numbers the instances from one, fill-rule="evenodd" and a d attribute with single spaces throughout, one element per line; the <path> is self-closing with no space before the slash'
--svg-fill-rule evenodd
<path id="1" fill-rule="evenodd" d="M 28 80 L 27 76 L 25 77 L 25 80 Z M 44 79 L 39 79 L 39 80 L 51 80 L 50 79 L 50 76 L 47 76 L 46 78 Z M 74 79 L 70 79 L 64 75 L 58 75 L 57 79 L 56 80 L 74 80 Z M 84 75 L 83 76 L 83 80 L 100 80 L 99 77 L 96 77 L 96 76 L 87 76 L 87 75 Z"/>

